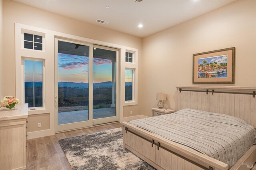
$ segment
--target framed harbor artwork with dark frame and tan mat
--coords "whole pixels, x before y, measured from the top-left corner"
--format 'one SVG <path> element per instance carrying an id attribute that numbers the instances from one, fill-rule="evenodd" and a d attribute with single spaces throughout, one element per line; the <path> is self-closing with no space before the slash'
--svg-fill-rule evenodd
<path id="1" fill-rule="evenodd" d="M 235 47 L 193 54 L 193 83 L 230 83 L 235 78 Z"/>

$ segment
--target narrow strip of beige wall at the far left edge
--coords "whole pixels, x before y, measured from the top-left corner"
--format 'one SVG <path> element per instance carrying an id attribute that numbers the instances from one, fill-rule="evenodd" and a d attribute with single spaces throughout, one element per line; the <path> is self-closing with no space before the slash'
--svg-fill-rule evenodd
<path id="1" fill-rule="evenodd" d="M 3 28 L 4 28 L 4 20 L 3 20 L 3 0 L 0 0 L 0 99 L 3 95 L 2 93 L 2 87 L 3 87 L 3 58 L 4 58 L 4 47 L 3 47 Z"/>

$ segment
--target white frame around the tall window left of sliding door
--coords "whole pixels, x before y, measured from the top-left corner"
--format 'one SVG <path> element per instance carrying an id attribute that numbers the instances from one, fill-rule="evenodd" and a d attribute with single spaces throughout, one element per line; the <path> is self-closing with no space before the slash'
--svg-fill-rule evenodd
<path id="1" fill-rule="evenodd" d="M 21 57 L 21 67 L 22 67 L 22 103 L 25 103 L 25 60 L 30 60 L 30 61 L 39 61 L 39 62 L 43 62 L 43 80 L 42 80 L 42 107 L 30 107 L 28 108 L 28 110 L 45 110 L 46 106 L 45 106 L 45 59 L 41 59 L 41 58 L 32 58 L 32 57 Z"/>

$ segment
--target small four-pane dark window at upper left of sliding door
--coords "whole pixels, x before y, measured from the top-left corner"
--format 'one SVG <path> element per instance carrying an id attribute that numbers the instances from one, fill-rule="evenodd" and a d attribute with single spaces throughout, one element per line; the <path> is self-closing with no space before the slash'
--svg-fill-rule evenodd
<path id="1" fill-rule="evenodd" d="M 32 50 L 43 50 L 43 37 L 24 33 L 24 48 Z"/>

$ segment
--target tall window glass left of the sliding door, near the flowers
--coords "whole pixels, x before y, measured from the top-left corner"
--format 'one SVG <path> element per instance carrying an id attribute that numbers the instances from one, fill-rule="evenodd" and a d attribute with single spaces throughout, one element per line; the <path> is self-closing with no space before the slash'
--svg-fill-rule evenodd
<path id="1" fill-rule="evenodd" d="M 24 98 L 29 108 L 43 107 L 43 62 L 24 60 Z"/>

